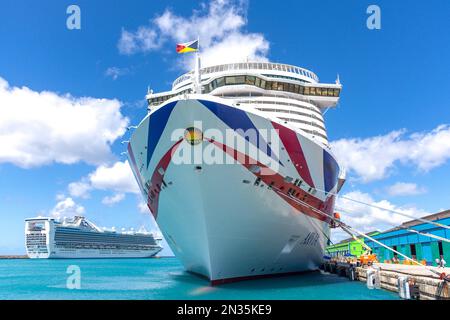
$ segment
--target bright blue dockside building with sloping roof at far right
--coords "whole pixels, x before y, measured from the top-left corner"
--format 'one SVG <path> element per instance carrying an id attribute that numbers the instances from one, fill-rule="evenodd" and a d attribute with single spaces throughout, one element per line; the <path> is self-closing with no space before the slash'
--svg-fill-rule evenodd
<path id="1" fill-rule="evenodd" d="M 450 210 L 435 213 L 423 217 L 422 219 L 450 226 Z M 419 235 L 410 232 L 407 229 L 450 239 L 449 229 L 424 223 L 419 220 L 404 222 L 399 227 L 384 231 L 373 236 L 373 238 L 417 261 L 426 261 L 427 265 L 436 265 L 435 260 L 441 256 L 447 261 L 447 266 L 450 264 L 450 243 L 436 238 Z M 372 248 L 373 253 L 377 255 L 380 262 L 394 258 L 394 253 L 392 251 L 383 248 L 379 244 L 371 240 L 366 240 L 365 243 Z M 395 256 L 397 256 L 399 260 L 404 260 L 401 256 L 396 254 Z"/>

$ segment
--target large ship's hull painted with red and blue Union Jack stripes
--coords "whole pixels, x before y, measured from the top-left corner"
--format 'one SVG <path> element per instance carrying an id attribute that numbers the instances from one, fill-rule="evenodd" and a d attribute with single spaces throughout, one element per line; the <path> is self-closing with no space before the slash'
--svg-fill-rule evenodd
<path id="1" fill-rule="evenodd" d="M 200 143 L 177 134 L 199 123 Z M 241 132 L 249 129 L 275 132 L 258 136 L 258 159 L 248 143 L 242 146 L 248 138 Z M 225 132 L 244 143 L 218 139 Z M 180 163 L 182 152 L 196 148 L 226 163 Z M 142 120 L 128 157 L 151 213 L 188 271 L 216 284 L 315 270 L 322 262 L 329 221 L 313 208 L 333 213 L 327 192 L 336 191 L 339 166 L 327 147 L 300 130 L 229 100 L 189 95 Z"/>

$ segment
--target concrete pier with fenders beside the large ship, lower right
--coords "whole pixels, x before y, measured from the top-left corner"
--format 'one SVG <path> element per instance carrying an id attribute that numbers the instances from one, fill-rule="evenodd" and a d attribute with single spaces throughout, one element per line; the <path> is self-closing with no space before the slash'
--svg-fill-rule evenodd
<path id="1" fill-rule="evenodd" d="M 389 263 L 374 263 L 374 268 L 379 268 L 381 288 L 398 292 L 398 277 L 407 276 L 408 280 L 418 286 L 421 300 L 448 300 L 449 283 L 440 280 L 439 277 L 425 268 L 420 266 L 389 264 Z M 439 273 L 445 272 L 450 275 L 450 268 L 429 267 Z M 357 279 L 360 281 L 367 281 L 368 267 L 357 267 Z"/>

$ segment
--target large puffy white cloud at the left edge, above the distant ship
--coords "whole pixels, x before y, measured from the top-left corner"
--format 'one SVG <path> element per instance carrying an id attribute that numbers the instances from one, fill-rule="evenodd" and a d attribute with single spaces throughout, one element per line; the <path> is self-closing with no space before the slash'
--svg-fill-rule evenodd
<path id="1" fill-rule="evenodd" d="M 31 168 L 53 162 L 101 164 L 128 118 L 117 100 L 11 87 L 0 77 L 0 163 Z"/>

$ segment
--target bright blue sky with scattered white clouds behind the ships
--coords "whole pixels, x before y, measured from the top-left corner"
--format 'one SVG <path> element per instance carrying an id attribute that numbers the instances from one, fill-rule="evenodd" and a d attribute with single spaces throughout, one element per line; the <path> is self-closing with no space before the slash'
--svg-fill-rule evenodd
<path id="1" fill-rule="evenodd" d="M 67 26 L 73 4 L 81 29 Z M 380 29 L 367 26 L 370 5 Z M 1 1 L 0 254 L 25 252 L 24 219 L 37 215 L 157 229 L 121 142 L 146 114 L 147 88 L 169 90 L 191 68 L 175 44 L 197 36 L 203 65 L 339 75 L 325 121 L 344 196 L 416 217 L 450 209 L 449 12 L 447 0 Z M 362 231 L 406 219 L 342 198 L 337 207 Z"/>

